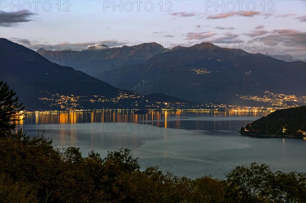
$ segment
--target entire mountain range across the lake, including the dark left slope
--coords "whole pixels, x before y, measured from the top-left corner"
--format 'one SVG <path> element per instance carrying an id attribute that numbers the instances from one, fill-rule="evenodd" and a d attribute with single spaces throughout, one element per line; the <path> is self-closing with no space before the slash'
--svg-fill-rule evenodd
<path id="1" fill-rule="evenodd" d="M 206 42 L 172 49 L 144 43 L 38 52 L 3 38 L 1 44 L 0 79 L 11 82 L 29 106 L 43 109 L 58 108 L 57 103 L 79 108 L 132 107 L 140 105 L 139 99 L 166 101 L 169 97 L 178 102 L 268 106 L 267 92 L 276 96 L 306 93 L 305 62 L 285 62 Z M 263 99 L 252 99 L 259 97 Z M 34 98 L 39 100 L 32 102 Z M 56 102 L 50 104 L 52 100 Z"/>

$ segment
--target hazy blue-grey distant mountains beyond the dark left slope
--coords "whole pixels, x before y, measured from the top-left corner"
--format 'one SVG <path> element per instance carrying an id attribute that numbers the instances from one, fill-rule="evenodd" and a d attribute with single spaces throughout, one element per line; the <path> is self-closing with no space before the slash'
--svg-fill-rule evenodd
<path id="1" fill-rule="evenodd" d="M 145 49 L 145 47 L 152 47 Z M 305 62 L 285 62 L 265 54 L 224 49 L 211 43 L 163 48 L 157 43 L 86 51 L 38 51 L 117 88 L 140 94 L 164 93 L 196 102 L 264 105 L 245 95 L 305 95 Z"/>

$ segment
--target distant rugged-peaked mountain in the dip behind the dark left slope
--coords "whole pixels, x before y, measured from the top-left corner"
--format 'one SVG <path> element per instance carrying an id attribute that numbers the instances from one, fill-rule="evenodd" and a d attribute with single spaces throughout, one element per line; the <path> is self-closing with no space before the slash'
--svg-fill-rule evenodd
<path id="1" fill-rule="evenodd" d="M 124 65 L 144 63 L 152 56 L 166 51 L 169 51 L 169 49 L 155 42 L 113 48 L 105 45 L 105 47 L 100 49 L 83 51 L 37 50 L 39 54 L 49 61 L 62 66 L 73 67 L 94 77 L 103 74 L 105 71 L 114 70 Z"/>

